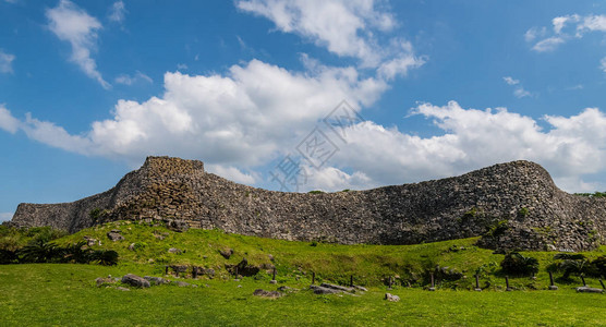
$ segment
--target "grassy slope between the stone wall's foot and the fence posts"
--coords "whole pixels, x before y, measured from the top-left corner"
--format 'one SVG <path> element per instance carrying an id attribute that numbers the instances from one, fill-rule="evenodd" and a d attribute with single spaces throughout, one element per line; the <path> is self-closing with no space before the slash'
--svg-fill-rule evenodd
<path id="1" fill-rule="evenodd" d="M 120 230 L 124 240 L 110 241 L 107 233 Z M 86 238 L 101 241 L 94 250 L 113 250 L 120 255 L 123 266 L 142 266 L 148 274 L 165 274 L 166 265 L 189 265 L 211 268 L 218 279 L 230 279 L 235 266 L 243 258 L 249 265 L 275 266 L 280 278 L 311 281 L 312 272 L 318 280 L 348 283 L 353 275 L 355 283 L 381 286 L 389 277 L 399 286 L 424 287 L 434 272 L 438 288 L 473 289 L 474 276 L 480 275 L 481 287 L 500 290 L 505 288 L 506 275 L 510 275 L 511 286 L 517 289 L 546 289 L 549 284 L 547 269 L 554 269 L 560 261 L 554 259 L 554 252 L 521 252 L 525 257 L 535 258 L 538 271 L 535 279 L 531 275 L 504 271 L 500 263 L 505 254 L 475 246 L 476 238 L 426 243 L 417 245 L 340 245 L 316 242 L 293 242 L 229 234 L 220 230 L 191 229 L 174 232 L 161 226 L 117 221 L 89 228 L 75 234 L 56 240 L 58 245 L 68 245 Z M 131 247 L 131 249 L 129 249 Z M 170 249 L 179 250 L 170 253 Z M 221 251 L 233 250 L 226 259 Z M 583 253 L 587 261 L 606 255 L 606 246 Z M 262 269 L 257 279 L 269 278 L 268 269 Z M 191 272 L 190 272 L 191 274 Z M 578 284 L 578 275 L 555 271 L 560 283 Z M 559 279 L 558 279 L 559 278 Z M 593 284 L 597 279 L 586 278 Z"/>

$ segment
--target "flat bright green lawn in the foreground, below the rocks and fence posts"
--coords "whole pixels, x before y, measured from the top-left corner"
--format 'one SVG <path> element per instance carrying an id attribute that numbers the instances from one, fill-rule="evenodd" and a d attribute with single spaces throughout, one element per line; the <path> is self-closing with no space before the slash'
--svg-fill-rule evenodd
<path id="1" fill-rule="evenodd" d="M 0 325 L 174 326 L 174 325 L 577 325 L 606 323 L 602 294 L 573 290 L 522 292 L 396 289 L 402 300 L 383 300 L 372 289 L 362 296 L 291 293 L 278 300 L 252 296 L 270 288 L 246 278 L 210 280 L 209 287 L 96 288 L 97 276 L 122 275 L 124 267 L 12 265 L 0 270 Z M 241 284 L 242 288 L 237 286 Z M 296 286 L 295 283 L 289 283 Z M 303 287 L 303 284 L 300 284 Z"/>

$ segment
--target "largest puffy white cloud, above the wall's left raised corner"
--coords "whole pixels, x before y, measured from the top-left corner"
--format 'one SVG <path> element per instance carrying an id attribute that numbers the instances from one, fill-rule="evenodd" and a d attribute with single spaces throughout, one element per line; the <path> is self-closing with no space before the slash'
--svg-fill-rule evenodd
<path id="1" fill-rule="evenodd" d="M 387 85 L 362 78 L 353 68 L 318 65 L 313 73 L 295 73 L 252 60 L 226 75 L 167 73 L 165 88 L 161 98 L 119 100 L 110 119 L 83 134 L 32 117 L 17 122 L 33 140 L 133 165 L 166 154 L 251 167 L 290 148 L 342 99 L 369 106 Z"/>

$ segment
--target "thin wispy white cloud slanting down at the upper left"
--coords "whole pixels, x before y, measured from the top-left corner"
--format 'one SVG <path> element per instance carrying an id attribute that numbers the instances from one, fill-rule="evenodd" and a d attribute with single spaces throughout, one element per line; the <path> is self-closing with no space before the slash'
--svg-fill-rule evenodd
<path id="1" fill-rule="evenodd" d="M 72 46 L 70 60 L 104 88 L 110 88 L 111 85 L 104 80 L 97 63 L 90 58 L 97 47 L 97 32 L 102 27 L 101 23 L 69 0 L 61 0 L 58 7 L 48 9 L 46 16 L 50 31 Z"/>

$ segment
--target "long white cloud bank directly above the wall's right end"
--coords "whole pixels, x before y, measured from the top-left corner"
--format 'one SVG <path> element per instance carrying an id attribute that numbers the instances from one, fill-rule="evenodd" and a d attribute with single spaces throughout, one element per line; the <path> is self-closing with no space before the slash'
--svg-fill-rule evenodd
<path id="1" fill-rule="evenodd" d="M 548 131 L 504 108 L 463 109 L 455 101 L 424 104 L 413 113 L 431 119 L 444 134 L 420 137 L 367 121 L 348 131 L 348 144 L 332 161 L 364 173 L 369 185 L 417 182 L 528 159 L 546 167 L 560 186 L 585 191 L 580 187 L 590 184 L 582 177 L 604 171 L 606 116 L 595 108 L 572 117 L 545 116 Z"/>

